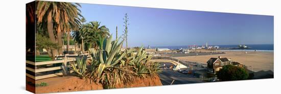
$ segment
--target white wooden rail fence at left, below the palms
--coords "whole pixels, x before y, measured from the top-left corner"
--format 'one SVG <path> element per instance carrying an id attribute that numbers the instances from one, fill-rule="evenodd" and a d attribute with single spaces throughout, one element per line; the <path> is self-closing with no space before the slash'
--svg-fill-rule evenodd
<path id="1" fill-rule="evenodd" d="M 76 62 L 77 57 L 68 57 L 68 56 L 74 56 L 74 55 L 64 55 L 63 58 L 61 56 L 57 56 L 57 59 L 61 59 L 61 60 L 43 61 L 43 62 L 26 61 L 27 64 L 35 66 L 33 68 L 26 67 L 27 70 L 34 73 L 34 75 L 26 73 L 26 76 L 28 76 L 34 80 L 39 80 L 39 79 L 62 76 L 62 75 L 67 75 L 69 73 L 72 73 L 73 70 L 68 70 L 68 67 L 70 67 L 68 62 Z M 87 55 L 87 59 L 91 59 L 91 56 Z M 48 67 L 48 68 L 36 68 L 39 65 L 53 65 L 53 64 L 59 64 L 59 63 L 61 63 L 61 66 L 53 66 L 53 67 Z M 77 64 L 75 64 L 75 65 L 77 65 Z M 58 70 L 58 69 L 62 69 L 62 72 L 54 73 L 54 74 L 46 74 L 46 75 L 43 74 L 41 76 L 36 76 L 36 73 L 51 72 L 51 71 Z"/>

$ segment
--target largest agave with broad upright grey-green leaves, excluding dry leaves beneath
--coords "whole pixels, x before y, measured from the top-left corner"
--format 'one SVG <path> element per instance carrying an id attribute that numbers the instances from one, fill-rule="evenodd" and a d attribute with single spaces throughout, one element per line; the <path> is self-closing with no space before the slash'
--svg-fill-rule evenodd
<path id="1" fill-rule="evenodd" d="M 99 41 L 97 41 L 97 43 L 99 44 L 99 49 L 90 49 L 93 58 L 91 68 L 93 70 L 97 68 L 98 71 L 97 82 L 99 82 L 100 78 L 102 78 L 103 80 L 103 77 L 101 77 L 101 75 L 105 73 L 104 70 L 107 68 L 115 68 L 123 70 L 123 72 L 125 71 L 124 69 L 121 69 L 119 65 L 121 63 L 125 63 L 124 60 L 122 60 L 125 56 L 125 53 L 121 52 L 123 41 L 119 42 L 118 39 L 115 41 L 111 41 L 111 39 L 112 36 L 106 38 L 100 37 Z M 98 67 L 96 67 L 97 65 Z"/>

